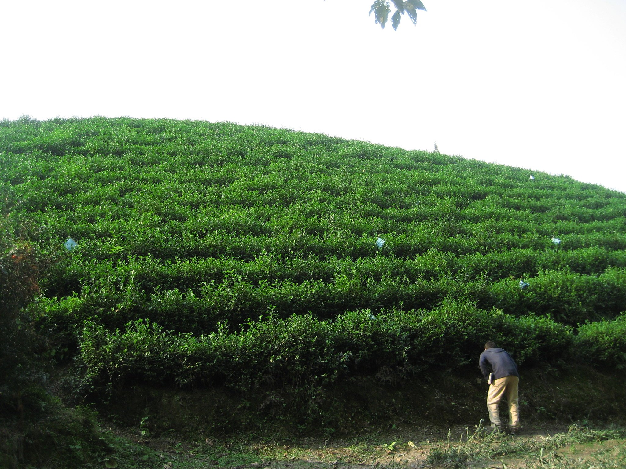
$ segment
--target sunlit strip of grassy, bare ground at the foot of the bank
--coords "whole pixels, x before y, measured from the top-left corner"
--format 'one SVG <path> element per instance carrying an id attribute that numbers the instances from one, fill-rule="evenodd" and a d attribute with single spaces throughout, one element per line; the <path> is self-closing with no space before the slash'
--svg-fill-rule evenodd
<path id="1" fill-rule="evenodd" d="M 626 429 L 535 425 L 523 435 L 493 435 L 473 428 L 393 429 L 349 440 L 299 438 L 189 441 L 150 438 L 141 431 L 110 430 L 120 451 L 90 468 L 221 469 L 608 469 L 626 467 Z"/>

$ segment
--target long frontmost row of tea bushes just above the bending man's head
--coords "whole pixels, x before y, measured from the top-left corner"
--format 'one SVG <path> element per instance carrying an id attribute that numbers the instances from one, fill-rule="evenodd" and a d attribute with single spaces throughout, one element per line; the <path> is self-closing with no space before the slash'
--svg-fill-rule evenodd
<path id="1" fill-rule="evenodd" d="M 352 311 L 333 321 L 270 315 L 235 332 L 222 323 L 201 336 L 143 320 L 113 332 L 87 322 L 81 358 L 88 383 L 96 388 L 109 383 L 111 391 L 136 382 L 299 389 L 354 373 L 384 381 L 431 367 L 453 370 L 475 361 L 489 339 L 505 345 L 520 364 L 545 362 L 570 348 L 572 332 L 547 318 L 513 318 L 456 302 L 432 311 Z"/>

